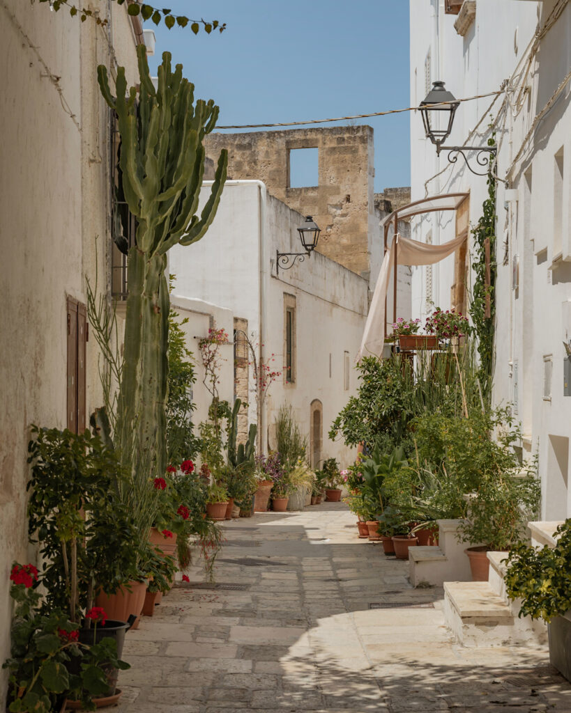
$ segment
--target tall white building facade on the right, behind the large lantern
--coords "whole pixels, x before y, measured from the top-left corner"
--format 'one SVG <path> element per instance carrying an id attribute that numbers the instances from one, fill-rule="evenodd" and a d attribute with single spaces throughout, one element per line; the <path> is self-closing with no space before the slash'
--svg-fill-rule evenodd
<path id="1" fill-rule="evenodd" d="M 461 103 L 445 145 L 497 142 L 495 404 L 512 404 L 525 454 L 539 454 L 542 518 L 571 515 L 571 4 L 568 0 L 410 0 L 410 101 L 433 81 Z M 411 199 L 469 193 L 456 218 L 413 219 L 414 240 L 435 245 L 473 227 L 485 176 L 437 158 L 418 112 L 410 116 Z M 470 165 L 476 153 L 468 153 Z M 452 214 L 453 215 L 453 214 Z M 468 234 L 468 252 L 473 250 Z M 413 267 L 413 317 L 458 307 L 458 256 Z M 470 268 L 468 261 L 468 289 Z M 465 302 L 468 296 L 465 296 Z"/>

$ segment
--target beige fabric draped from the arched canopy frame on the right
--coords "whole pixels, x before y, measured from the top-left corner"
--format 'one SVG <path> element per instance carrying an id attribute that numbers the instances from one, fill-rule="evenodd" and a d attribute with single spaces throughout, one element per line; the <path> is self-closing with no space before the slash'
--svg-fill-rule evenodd
<path id="1" fill-rule="evenodd" d="M 368 354 L 375 354 L 375 356 L 383 354 L 383 346 L 385 344 L 385 298 L 395 261 L 395 246 L 398 265 L 433 265 L 458 250 L 466 240 L 466 237 L 467 235 L 457 237 L 456 240 L 445 242 L 444 245 L 428 245 L 425 242 L 400 237 L 397 233 L 396 240 L 393 240 L 389 250 L 385 252 L 383 265 L 380 267 L 357 361 L 360 361 L 363 356 Z"/>

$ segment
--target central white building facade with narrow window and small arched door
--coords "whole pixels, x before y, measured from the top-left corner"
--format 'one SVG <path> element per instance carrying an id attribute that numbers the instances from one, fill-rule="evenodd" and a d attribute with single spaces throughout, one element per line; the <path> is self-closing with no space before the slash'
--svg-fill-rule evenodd
<path id="1" fill-rule="evenodd" d="M 209 190 L 206 182 L 202 202 Z M 246 332 L 258 365 L 268 364 L 271 371 L 279 372 L 258 423 L 253 355 L 238 356 L 230 347 L 221 347 L 228 354 L 221 352 L 225 359 L 221 373 L 226 376 L 221 379 L 220 397 L 232 402 L 241 396 L 248 401 L 248 421 L 258 423 L 264 451 L 274 445 L 273 422 L 280 406 L 291 404 L 301 431 L 308 436 L 313 466 L 320 467 L 329 457 L 347 466 L 355 454 L 341 441 L 330 441 L 328 431 L 358 386 L 353 366 L 368 309 L 368 280 L 318 252 L 296 261 L 289 270 L 278 269 L 278 251 L 302 252 L 297 229 L 304 220 L 270 195 L 261 181 L 228 181 L 206 238 L 192 250 L 178 246 L 171 250 L 169 270 L 176 275 L 173 304 L 178 309 L 185 299 L 196 298 L 229 310 L 236 344 L 241 343 L 240 332 Z M 217 329 L 224 326 L 218 317 L 212 323 Z M 206 332 L 205 322 L 202 332 L 189 334 L 189 349 L 197 353 L 198 339 Z M 236 369 L 240 359 L 247 369 L 246 393 L 236 391 L 236 379 L 228 379 L 228 371 L 232 366 Z M 205 398 L 208 405 L 208 394 L 201 392 L 200 401 Z M 196 423 L 205 420 L 203 407 Z"/>

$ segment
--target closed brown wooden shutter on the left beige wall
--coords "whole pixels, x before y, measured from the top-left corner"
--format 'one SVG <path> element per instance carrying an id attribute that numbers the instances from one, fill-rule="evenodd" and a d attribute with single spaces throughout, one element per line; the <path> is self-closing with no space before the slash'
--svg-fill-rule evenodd
<path id="1" fill-rule="evenodd" d="M 86 427 L 87 308 L 67 299 L 67 427 L 83 433 Z"/>

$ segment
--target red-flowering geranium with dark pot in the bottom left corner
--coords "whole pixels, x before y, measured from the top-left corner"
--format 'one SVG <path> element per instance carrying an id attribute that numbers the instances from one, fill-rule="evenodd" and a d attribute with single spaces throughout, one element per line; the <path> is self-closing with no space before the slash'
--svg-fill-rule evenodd
<path id="1" fill-rule="evenodd" d="M 7 711 L 50 713 L 65 709 L 67 698 L 79 698 L 86 709 L 101 698 L 118 698 L 117 672 L 129 665 L 119 659 L 128 624 L 105 622 L 104 635 L 96 635 L 99 612 L 88 611 L 93 628 L 80 630 L 69 613 L 47 605 L 39 593 L 44 585 L 34 565 L 14 563 L 10 595 L 15 602 L 11 625 L 11 655 Z M 104 614 L 104 612 L 103 612 Z M 91 615 L 91 616 L 90 616 Z M 101 627 L 99 627 L 101 630 Z"/>

